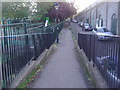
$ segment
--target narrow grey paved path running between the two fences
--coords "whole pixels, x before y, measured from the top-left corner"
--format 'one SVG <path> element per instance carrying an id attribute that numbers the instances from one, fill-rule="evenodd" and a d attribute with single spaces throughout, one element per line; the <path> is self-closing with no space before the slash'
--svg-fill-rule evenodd
<path id="1" fill-rule="evenodd" d="M 29 88 L 87 88 L 81 70 L 71 31 L 64 29 L 54 54 Z"/>

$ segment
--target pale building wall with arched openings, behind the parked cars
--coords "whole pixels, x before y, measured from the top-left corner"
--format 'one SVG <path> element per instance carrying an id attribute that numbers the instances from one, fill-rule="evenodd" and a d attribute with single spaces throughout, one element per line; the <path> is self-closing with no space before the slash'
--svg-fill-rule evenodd
<path id="1" fill-rule="evenodd" d="M 86 21 L 87 18 L 90 18 L 90 24 L 95 27 L 98 23 L 99 16 L 101 15 L 101 18 L 103 20 L 103 26 L 107 27 L 111 30 L 111 23 L 112 23 L 112 16 L 113 14 L 116 14 L 117 20 L 118 20 L 118 2 L 102 2 L 97 5 L 94 5 L 93 7 L 88 7 L 83 12 L 79 13 L 78 15 L 78 21 L 81 19 L 83 22 Z M 120 31 L 118 30 L 118 23 L 117 23 L 117 34 L 119 34 Z"/>

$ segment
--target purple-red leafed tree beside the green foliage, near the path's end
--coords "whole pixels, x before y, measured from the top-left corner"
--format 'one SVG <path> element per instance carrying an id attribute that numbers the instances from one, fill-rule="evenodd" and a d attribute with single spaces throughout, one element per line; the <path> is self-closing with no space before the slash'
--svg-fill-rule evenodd
<path id="1" fill-rule="evenodd" d="M 63 21 L 66 18 L 71 18 L 74 14 L 77 13 L 76 8 L 73 6 L 73 4 L 70 4 L 68 2 L 59 2 L 59 11 L 56 12 L 55 7 L 49 9 L 48 16 L 53 21 L 55 17 L 58 17 L 60 21 Z"/>

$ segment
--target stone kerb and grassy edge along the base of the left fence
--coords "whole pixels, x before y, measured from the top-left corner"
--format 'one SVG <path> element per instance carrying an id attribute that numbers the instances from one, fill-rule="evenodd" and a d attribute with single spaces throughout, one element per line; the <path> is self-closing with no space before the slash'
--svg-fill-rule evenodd
<path id="1" fill-rule="evenodd" d="M 42 67 L 45 64 L 45 61 L 52 54 L 55 47 L 56 44 L 54 43 L 49 49 L 45 49 L 36 61 L 31 61 L 27 64 L 8 88 L 18 88 L 27 79 L 27 76 L 38 67 L 38 65 L 41 65 Z"/>

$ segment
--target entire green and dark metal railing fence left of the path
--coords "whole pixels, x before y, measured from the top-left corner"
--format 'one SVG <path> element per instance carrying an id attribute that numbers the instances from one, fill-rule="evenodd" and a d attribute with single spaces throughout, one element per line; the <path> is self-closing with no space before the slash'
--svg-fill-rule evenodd
<path id="1" fill-rule="evenodd" d="M 13 23 L 0 26 L 2 87 L 9 86 L 23 67 L 48 49 L 63 28 L 63 22 L 44 27 L 42 24 Z"/>

